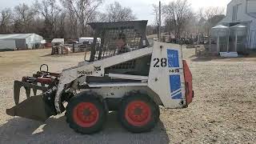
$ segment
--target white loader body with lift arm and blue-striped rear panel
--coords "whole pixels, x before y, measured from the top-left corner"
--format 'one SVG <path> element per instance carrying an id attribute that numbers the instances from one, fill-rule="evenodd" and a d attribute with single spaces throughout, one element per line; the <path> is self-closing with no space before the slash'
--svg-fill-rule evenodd
<path id="1" fill-rule="evenodd" d="M 149 75 L 106 74 L 106 68 L 136 58 L 151 56 Z M 111 79 L 134 80 L 134 82 L 86 82 L 86 77 L 109 77 Z M 86 88 L 79 88 L 86 86 Z M 179 45 L 154 42 L 154 47 L 104 58 L 95 62 L 81 62 L 78 66 L 62 71 L 55 97 L 55 109 L 60 110 L 64 91 L 90 91 L 102 98 L 122 98 L 130 91 L 145 93 L 166 108 L 186 107 L 186 86 Z"/>

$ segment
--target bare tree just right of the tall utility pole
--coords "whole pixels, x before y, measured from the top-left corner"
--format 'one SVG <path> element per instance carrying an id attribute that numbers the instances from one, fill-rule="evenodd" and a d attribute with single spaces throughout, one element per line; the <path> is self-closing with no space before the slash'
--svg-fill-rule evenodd
<path id="1" fill-rule="evenodd" d="M 166 25 L 174 29 L 176 38 L 180 38 L 185 30 L 186 22 L 193 16 L 188 0 L 176 0 L 164 6 Z"/>

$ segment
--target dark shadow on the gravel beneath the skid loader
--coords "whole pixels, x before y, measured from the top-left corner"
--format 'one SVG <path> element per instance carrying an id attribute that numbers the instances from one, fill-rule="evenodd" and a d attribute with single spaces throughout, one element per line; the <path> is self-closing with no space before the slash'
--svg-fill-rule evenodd
<path id="1" fill-rule="evenodd" d="M 93 143 L 98 143 L 98 139 L 104 139 L 106 142 L 103 143 L 134 143 L 134 139 L 136 139 L 137 143 L 170 143 L 162 121 L 159 121 L 158 126 L 151 132 L 132 134 L 122 128 L 115 112 L 110 112 L 105 127 L 101 132 L 91 135 L 75 133 L 66 123 L 65 116 L 49 118 L 45 123 L 35 122 L 26 118 L 11 118 L 0 126 L 0 143 L 15 142 L 14 138 L 17 136 L 22 139 L 22 142 L 26 142 L 27 139 L 33 140 L 42 137 L 54 141 L 58 141 L 58 138 L 76 139 L 73 143 L 81 143 L 89 139 Z"/>

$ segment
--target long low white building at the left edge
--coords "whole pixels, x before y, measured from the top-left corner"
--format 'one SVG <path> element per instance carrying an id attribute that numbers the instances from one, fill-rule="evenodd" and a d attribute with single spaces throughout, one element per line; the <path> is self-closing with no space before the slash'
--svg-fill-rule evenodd
<path id="1" fill-rule="evenodd" d="M 38 34 L 0 34 L 0 50 L 38 49 L 42 40 Z"/>

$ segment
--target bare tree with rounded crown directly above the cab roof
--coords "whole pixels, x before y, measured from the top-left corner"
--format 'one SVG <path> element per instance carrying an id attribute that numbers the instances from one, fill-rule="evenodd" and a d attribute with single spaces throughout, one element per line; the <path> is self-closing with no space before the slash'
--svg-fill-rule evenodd
<path id="1" fill-rule="evenodd" d="M 131 21 L 136 19 L 133 11 L 129 7 L 122 7 L 119 2 L 114 2 L 107 6 L 106 17 L 109 22 Z"/>

